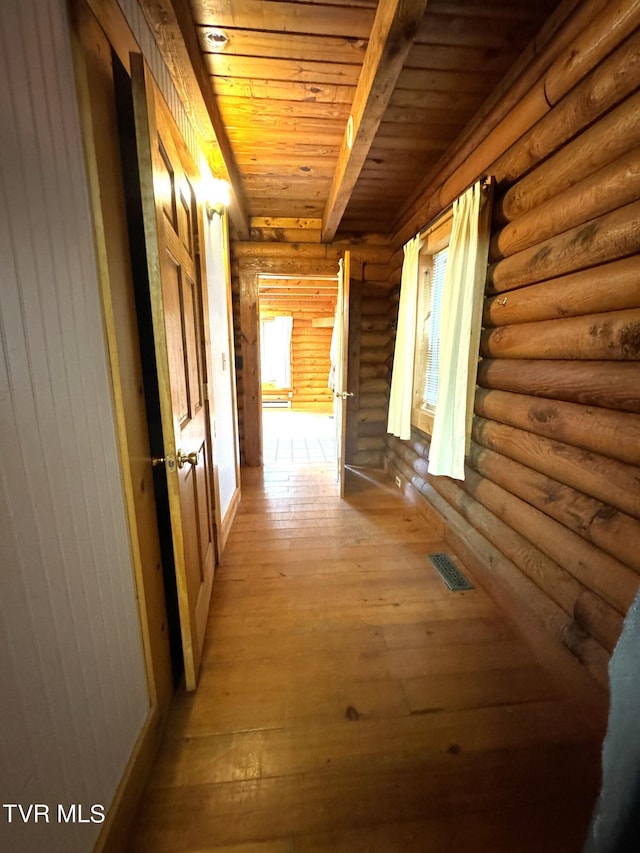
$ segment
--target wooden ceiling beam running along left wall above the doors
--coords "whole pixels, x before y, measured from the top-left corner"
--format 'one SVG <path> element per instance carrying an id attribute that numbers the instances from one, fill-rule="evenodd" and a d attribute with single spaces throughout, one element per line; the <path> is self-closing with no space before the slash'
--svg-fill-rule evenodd
<path id="1" fill-rule="evenodd" d="M 191 18 L 189 0 L 142 0 L 142 10 L 151 25 L 163 58 L 176 80 L 176 89 L 190 100 L 201 98 L 211 123 L 219 148 L 219 156 L 208 151 L 201 138 L 203 153 L 212 165 L 218 178 L 224 178 L 231 186 L 229 216 L 242 239 L 249 235 L 249 216 L 242 190 L 242 181 L 233 156 L 211 80 L 200 52 L 198 34 Z M 185 105 L 188 112 L 197 112 L 193 103 Z M 196 128 L 198 130 L 198 128 Z M 217 168 L 216 168 L 217 167 Z M 222 168 L 224 174 L 220 174 Z"/>

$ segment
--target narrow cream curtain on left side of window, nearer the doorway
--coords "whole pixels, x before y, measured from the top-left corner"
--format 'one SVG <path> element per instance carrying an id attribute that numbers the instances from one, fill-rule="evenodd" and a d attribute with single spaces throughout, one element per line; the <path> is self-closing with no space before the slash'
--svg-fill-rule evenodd
<path id="1" fill-rule="evenodd" d="M 393 354 L 391 395 L 387 432 L 398 438 L 411 438 L 411 404 L 413 399 L 413 358 L 416 346 L 416 313 L 418 306 L 418 261 L 420 258 L 420 235 L 413 237 L 404 246 L 402 278 L 400 281 L 400 304 L 398 306 L 398 328 Z"/>

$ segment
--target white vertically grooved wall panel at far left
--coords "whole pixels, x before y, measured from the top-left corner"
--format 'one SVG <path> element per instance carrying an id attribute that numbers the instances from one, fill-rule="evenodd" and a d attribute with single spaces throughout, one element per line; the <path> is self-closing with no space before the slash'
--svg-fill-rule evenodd
<path id="1" fill-rule="evenodd" d="M 2 803 L 108 806 L 149 700 L 64 0 L 0 5 Z M 98 824 L 0 848 L 90 850 Z"/>

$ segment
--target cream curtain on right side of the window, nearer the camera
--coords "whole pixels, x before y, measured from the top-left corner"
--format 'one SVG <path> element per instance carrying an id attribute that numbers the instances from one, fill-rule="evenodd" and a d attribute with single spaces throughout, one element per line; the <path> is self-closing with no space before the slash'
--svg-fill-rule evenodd
<path id="1" fill-rule="evenodd" d="M 454 202 L 442 296 L 439 390 L 428 470 L 458 480 L 464 480 L 471 439 L 490 207 L 490 191 L 480 181 Z"/>

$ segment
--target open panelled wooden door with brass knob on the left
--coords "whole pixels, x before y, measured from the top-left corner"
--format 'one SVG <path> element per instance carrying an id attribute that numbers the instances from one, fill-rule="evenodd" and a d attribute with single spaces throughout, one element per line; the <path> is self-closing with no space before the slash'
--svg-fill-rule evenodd
<path id="1" fill-rule="evenodd" d="M 196 687 L 213 585 L 198 175 L 139 54 L 131 56 L 163 458 L 185 684 Z"/>

